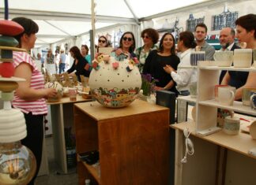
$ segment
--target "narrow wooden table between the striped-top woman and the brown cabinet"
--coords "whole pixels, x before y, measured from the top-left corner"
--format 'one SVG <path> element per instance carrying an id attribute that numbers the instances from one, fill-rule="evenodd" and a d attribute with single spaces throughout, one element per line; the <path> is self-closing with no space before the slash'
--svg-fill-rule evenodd
<path id="1" fill-rule="evenodd" d="M 55 161 L 64 173 L 67 173 L 64 128 L 73 127 L 73 104 L 90 101 L 91 99 L 85 99 L 81 95 L 77 95 L 77 101 L 70 101 L 70 97 L 66 97 L 58 102 L 47 102 L 47 105 L 51 105 Z"/>

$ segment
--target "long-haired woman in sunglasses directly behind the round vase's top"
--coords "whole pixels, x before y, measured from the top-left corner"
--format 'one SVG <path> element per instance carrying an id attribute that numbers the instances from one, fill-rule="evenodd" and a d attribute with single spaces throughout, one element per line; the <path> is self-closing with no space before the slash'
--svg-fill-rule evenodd
<path id="1" fill-rule="evenodd" d="M 121 54 L 124 54 L 126 58 L 136 57 L 136 54 L 134 54 L 134 49 L 135 49 L 134 33 L 131 31 L 126 31 L 124 34 L 122 34 L 119 47 L 115 50 L 114 54 L 116 56 L 120 56 Z"/>

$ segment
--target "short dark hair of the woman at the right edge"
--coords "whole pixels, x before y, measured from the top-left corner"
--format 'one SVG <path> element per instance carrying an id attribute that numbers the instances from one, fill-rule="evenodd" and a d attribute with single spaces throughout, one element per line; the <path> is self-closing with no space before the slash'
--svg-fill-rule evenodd
<path id="1" fill-rule="evenodd" d="M 256 39 L 256 14 L 250 13 L 239 17 L 237 20 L 235 20 L 235 25 L 239 25 L 245 28 L 247 31 L 254 30 L 254 39 Z"/>

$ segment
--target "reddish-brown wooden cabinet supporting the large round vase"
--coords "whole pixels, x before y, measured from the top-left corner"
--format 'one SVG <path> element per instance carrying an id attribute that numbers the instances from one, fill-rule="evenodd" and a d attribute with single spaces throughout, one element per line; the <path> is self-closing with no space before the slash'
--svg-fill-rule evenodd
<path id="1" fill-rule="evenodd" d="M 100 173 L 78 161 L 79 184 L 168 184 L 169 109 L 135 100 L 121 109 L 74 105 L 77 154 L 100 152 Z"/>

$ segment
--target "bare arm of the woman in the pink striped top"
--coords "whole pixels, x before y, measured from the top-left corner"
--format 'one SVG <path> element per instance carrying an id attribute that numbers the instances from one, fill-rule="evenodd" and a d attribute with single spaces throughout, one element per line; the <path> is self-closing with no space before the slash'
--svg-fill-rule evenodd
<path id="1" fill-rule="evenodd" d="M 25 79 L 24 82 L 19 82 L 19 87 L 15 91 L 17 96 L 27 101 L 34 101 L 40 98 L 55 97 L 57 92 L 53 88 L 49 89 L 32 89 L 30 87 L 32 66 L 27 63 L 21 63 L 15 68 L 14 76 Z"/>

